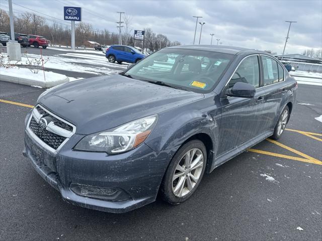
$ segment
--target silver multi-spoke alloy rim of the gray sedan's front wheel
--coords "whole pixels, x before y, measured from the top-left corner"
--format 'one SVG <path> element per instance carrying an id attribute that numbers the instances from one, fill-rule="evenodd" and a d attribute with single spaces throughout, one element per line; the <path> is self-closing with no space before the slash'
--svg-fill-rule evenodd
<path id="1" fill-rule="evenodd" d="M 191 149 L 183 155 L 172 177 L 172 191 L 176 197 L 183 197 L 194 189 L 203 165 L 204 157 L 200 149 Z"/>

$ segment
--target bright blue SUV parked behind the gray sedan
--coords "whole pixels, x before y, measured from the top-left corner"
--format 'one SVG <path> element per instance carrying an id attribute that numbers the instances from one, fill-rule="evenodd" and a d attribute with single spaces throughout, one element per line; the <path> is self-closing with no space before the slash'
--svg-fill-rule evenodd
<path id="1" fill-rule="evenodd" d="M 124 45 L 112 45 L 106 49 L 105 57 L 110 63 L 136 63 L 145 57 L 136 48 Z"/>

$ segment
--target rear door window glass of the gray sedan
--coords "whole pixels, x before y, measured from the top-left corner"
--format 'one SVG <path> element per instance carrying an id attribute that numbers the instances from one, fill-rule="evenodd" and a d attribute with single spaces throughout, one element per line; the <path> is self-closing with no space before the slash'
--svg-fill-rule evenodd
<path id="1" fill-rule="evenodd" d="M 278 67 L 276 60 L 262 56 L 263 72 L 264 72 L 264 86 L 278 83 Z"/>

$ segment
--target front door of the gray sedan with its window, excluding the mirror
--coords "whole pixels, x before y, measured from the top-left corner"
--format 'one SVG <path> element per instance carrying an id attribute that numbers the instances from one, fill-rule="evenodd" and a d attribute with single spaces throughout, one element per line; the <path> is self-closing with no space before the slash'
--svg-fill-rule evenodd
<path id="1" fill-rule="evenodd" d="M 237 148 L 260 134 L 257 112 L 262 104 L 262 96 L 265 95 L 265 91 L 259 89 L 260 78 L 259 56 L 250 55 L 241 60 L 223 89 L 226 91 L 237 82 L 245 82 L 254 85 L 257 91 L 252 98 L 221 94 L 222 115 L 217 156 Z"/>

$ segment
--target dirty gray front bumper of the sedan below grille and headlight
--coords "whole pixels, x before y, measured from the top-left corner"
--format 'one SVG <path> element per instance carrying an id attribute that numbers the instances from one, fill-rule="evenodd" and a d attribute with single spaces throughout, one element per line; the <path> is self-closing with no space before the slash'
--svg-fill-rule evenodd
<path id="1" fill-rule="evenodd" d="M 78 206 L 122 213 L 138 208 L 156 198 L 158 188 L 172 156 L 177 148 L 154 152 L 142 144 L 129 152 L 110 155 L 105 153 L 73 151 L 72 147 L 83 136 L 74 135 L 57 154 L 39 145 L 25 131 L 24 156 L 52 187 L 57 189 L 68 203 Z M 72 184 L 116 188 L 128 197 L 124 200 L 103 200 L 78 195 Z"/>

